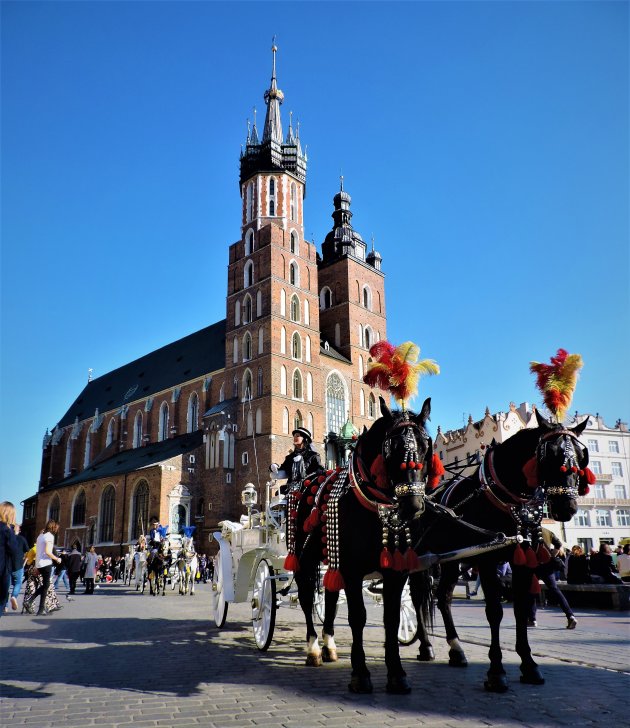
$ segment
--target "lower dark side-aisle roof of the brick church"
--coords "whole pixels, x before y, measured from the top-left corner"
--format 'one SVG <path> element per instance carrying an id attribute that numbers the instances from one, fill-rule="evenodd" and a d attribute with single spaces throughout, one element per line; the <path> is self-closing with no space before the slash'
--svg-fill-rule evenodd
<path id="1" fill-rule="evenodd" d="M 179 435 L 170 440 L 154 442 L 146 447 L 136 447 L 132 450 L 122 450 L 113 457 L 103 460 L 100 463 L 90 465 L 77 475 L 54 484 L 54 487 L 76 485 L 85 483 L 87 480 L 99 480 L 100 478 L 112 478 L 116 475 L 133 473 L 141 468 L 156 465 L 164 460 L 183 455 L 198 448 L 203 442 L 203 432 L 197 430 L 186 435 Z"/>

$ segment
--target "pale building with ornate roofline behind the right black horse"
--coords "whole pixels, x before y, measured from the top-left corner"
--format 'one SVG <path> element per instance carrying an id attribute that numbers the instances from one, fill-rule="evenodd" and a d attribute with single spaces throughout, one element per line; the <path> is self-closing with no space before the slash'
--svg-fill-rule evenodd
<path id="1" fill-rule="evenodd" d="M 512 402 L 507 412 L 491 415 L 486 409 L 476 422 L 470 416 L 460 429 L 442 432 L 438 427 L 435 450 L 445 465 L 469 462 L 463 471 L 469 475 L 493 440 L 504 442 L 523 428 L 537 427 L 534 412 L 535 407 L 527 402 L 519 407 Z M 597 481 L 588 495 L 578 498 L 579 510 L 572 521 L 557 523 L 545 518 L 543 525 L 567 545 L 579 544 L 588 552 L 602 542 L 617 545 L 621 539 L 630 538 L 630 432 L 621 420 L 607 427 L 599 415 L 576 413 L 570 426 L 586 418 L 588 424 L 580 440 L 588 448 L 589 467 Z"/>

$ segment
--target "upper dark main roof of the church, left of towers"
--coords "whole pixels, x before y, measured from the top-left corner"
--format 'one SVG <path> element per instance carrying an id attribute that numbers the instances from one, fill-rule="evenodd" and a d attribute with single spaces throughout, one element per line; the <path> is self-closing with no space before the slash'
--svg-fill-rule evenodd
<path id="1" fill-rule="evenodd" d="M 225 319 L 88 382 L 59 421 L 67 427 L 225 366 Z"/>

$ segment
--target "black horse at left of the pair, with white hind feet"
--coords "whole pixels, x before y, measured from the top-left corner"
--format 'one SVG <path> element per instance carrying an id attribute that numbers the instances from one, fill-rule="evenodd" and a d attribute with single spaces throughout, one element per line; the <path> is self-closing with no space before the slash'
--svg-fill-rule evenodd
<path id="1" fill-rule="evenodd" d="M 336 660 L 334 618 L 338 592 L 345 589 L 348 622 L 352 630 L 352 679 L 349 689 L 372 692 L 363 650 L 366 611 L 363 579 L 380 572 L 383 577 L 383 621 L 387 691 L 408 693 L 402 668 L 398 626 L 402 590 L 408 566 L 415 565 L 410 521 L 423 508 L 425 478 L 432 468 L 432 442 L 425 429 L 431 412 L 427 399 L 420 414 L 390 412 L 380 399 L 382 416 L 358 438 L 346 468 L 328 471 L 317 481 L 305 481 L 301 494 L 289 493 L 289 518 L 295 519 L 289 538 L 290 561 L 295 572 L 300 605 L 307 625 L 307 664 Z M 380 511 L 380 513 L 379 513 Z M 412 564 L 407 560 L 412 559 Z M 313 624 L 313 597 L 319 563 L 324 578 L 325 619 L 323 649 Z M 428 599 L 428 596 L 427 596 Z"/>

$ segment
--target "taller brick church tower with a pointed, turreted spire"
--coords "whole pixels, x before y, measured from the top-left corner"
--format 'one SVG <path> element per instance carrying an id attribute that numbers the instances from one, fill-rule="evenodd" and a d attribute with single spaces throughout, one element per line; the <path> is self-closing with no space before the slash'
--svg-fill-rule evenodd
<path id="1" fill-rule="evenodd" d="M 296 426 L 323 439 L 317 255 L 304 239 L 307 158 L 299 125 L 283 134 L 284 100 L 272 73 L 240 158 L 241 239 L 230 246 L 225 399 L 236 401 L 236 482 L 262 487 L 292 448 Z"/>

